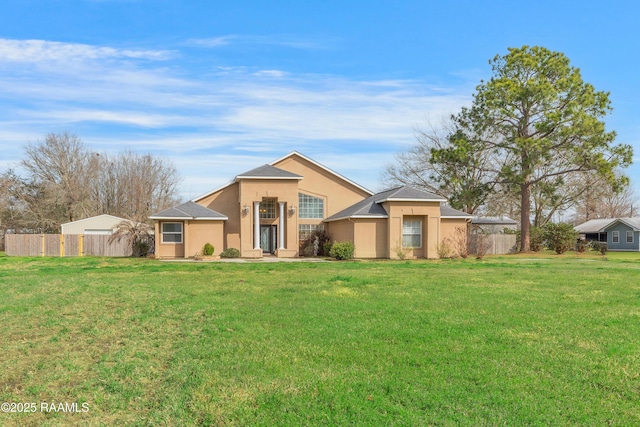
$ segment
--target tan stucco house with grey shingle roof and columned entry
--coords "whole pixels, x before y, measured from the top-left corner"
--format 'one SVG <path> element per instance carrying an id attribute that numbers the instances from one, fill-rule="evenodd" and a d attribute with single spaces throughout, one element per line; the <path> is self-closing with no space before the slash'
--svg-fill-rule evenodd
<path id="1" fill-rule="evenodd" d="M 374 194 L 294 151 L 150 218 L 159 258 L 193 257 L 207 242 L 245 258 L 297 257 L 318 228 L 353 242 L 356 258 L 437 258 L 438 245 L 471 221 L 445 203 L 411 187 Z"/>

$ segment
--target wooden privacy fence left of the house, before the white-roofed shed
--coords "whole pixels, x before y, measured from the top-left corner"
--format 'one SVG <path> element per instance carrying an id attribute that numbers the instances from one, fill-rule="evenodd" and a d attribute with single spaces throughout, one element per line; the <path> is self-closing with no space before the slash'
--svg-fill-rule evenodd
<path id="1" fill-rule="evenodd" d="M 96 234 L 7 234 L 9 256 L 131 256 L 126 239 L 109 243 L 109 236 Z"/>

